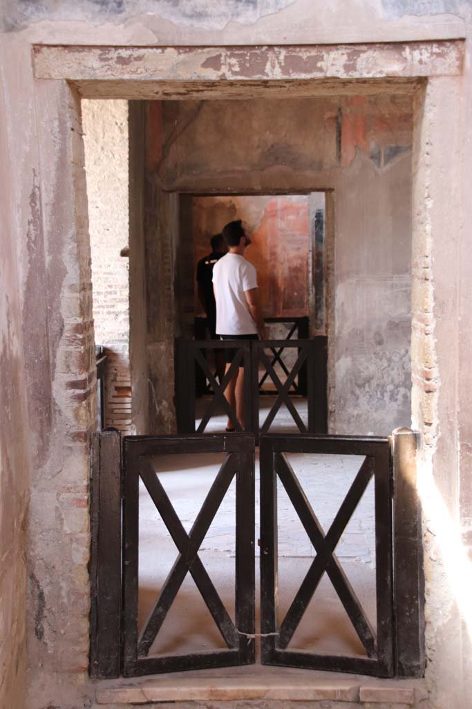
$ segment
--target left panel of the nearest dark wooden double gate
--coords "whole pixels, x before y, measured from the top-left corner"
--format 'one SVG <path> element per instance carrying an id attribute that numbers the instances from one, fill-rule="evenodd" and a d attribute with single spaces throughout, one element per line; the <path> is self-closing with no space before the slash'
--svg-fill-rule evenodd
<path id="1" fill-rule="evenodd" d="M 190 532 L 186 532 L 159 481 L 151 457 L 160 454 L 220 452 L 226 454 L 226 459 Z M 127 437 L 123 441 L 123 454 L 123 674 L 136 676 L 253 663 L 255 652 L 253 435 Z M 198 550 L 235 477 L 236 623 L 234 624 L 202 564 Z M 178 556 L 171 573 L 161 588 L 140 635 L 138 635 L 139 479 L 146 486 L 178 549 Z M 156 552 L 159 554 L 159 549 L 156 549 Z M 148 657 L 149 649 L 188 573 L 192 575 L 228 649 Z"/>

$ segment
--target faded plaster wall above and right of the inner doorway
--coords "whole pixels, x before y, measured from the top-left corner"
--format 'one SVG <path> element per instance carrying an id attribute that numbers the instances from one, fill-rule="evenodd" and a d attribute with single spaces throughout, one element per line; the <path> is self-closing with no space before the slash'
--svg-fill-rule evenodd
<path id="1" fill-rule="evenodd" d="M 162 116 L 167 190 L 333 190 L 330 431 L 408 425 L 410 98 L 169 101 Z"/>

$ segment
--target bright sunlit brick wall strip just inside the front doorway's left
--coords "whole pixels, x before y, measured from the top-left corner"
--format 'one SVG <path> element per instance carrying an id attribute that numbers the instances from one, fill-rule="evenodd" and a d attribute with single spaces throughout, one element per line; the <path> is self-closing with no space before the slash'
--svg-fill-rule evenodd
<path id="1" fill-rule="evenodd" d="M 105 347 L 105 426 L 135 432 L 129 367 L 128 102 L 82 101 L 93 324 Z"/>

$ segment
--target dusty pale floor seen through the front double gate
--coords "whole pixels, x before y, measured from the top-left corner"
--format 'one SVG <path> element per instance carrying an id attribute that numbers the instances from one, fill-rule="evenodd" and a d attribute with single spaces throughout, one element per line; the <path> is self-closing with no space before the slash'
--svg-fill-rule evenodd
<path id="1" fill-rule="evenodd" d="M 301 407 L 304 403 L 301 403 Z M 300 406 L 297 406 L 299 408 Z M 305 406 L 306 408 L 306 406 Z M 277 430 L 294 430 L 287 416 L 277 417 Z M 211 430 L 221 430 L 224 416 L 210 422 Z M 311 506 L 325 532 L 328 530 L 347 489 L 362 464 L 359 456 L 290 454 L 289 462 L 299 478 Z M 205 496 L 223 461 L 223 454 L 162 456 L 154 459 L 156 471 L 185 530 L 190 530 Z M 259 462 L 256 455 L 256 530 L 258 540 Z M 217 591 L 234 620 L 235 566 L 234 482 L 221 503 L 200 547 Z M 297 513 L 281 484 L 277 490 L 279 526 L 279 607 L 280 622 L 309 569 L 314 549 Z M 144 486 L 139 498 L 139 627 L 154 605 L 171 570 L 177 549 Z M 338 559 L 350 579 L 372 625 L 376 625 L 374 487 L 369 484 L 355 514 L 336 549 Z M 256 543 L 256 604 L 258 629 L 259 583 Z M 151 654 L 186 654 L 222 648 L 224 642 L 200 593 L 188 575 L 151 648 Z M 360 654 L 360 644 L 343 605 L 330 581 L 323 576 L 289 649 L 329 654 Z"/>

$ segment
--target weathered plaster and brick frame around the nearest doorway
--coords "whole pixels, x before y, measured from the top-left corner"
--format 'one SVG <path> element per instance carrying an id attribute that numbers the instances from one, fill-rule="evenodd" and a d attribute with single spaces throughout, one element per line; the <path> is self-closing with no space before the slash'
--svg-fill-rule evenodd
<path id="1" fill-rule="evenodd" d="M 408 45 L 415 48 L 423 47 L 426 53 L 422 62 L 403 62 L 401 69 L 393 66 L 387 54 L 398 61 L 403 57 L 403 50 Z M 439 486 L 447 497 L 454 498 L 457 494 L 459 477 L 444 476 L 442 467 L 457 470 L 457 453 L 451 457 L 448 440 L 455 440 L 456 419 L 449 417 L 448 412 L 455 401 L 456 389 L 454 381 L 459 365 L 451 364 L 451 331 L 448 320 L 454 320 L 457 312 L 458 298 L 456 281 L 449 278 L 456 264 L 458 239 L 453 244 L 446 243 L 444 233 L 449 233 L 451 210 L 459 206 L 460 189 L 457 189 L 456 179 L 444 184 L 437 177 L 444 171 L 454 174 L 456 151 L 460 151 L 461 116 L 461 74 L 462 74 L 462 41 L 456 42 L 422 42 L 422 43 L 391 43 L 384 45 L 357 45 L 347 52 L 343 67 L 335 69 L 336 76 L 328 76 L 326 69 L 316 65 L 310 77 L 306 66 L 306 52 L 317 52 L 318 57 L 325 60 L 323 66 L 329 66 L 330 56 L 335 48 L 329 45 L 318 45 L 312 48 L 288 48 L 289 55 L 297 57 L 297 52 L 303 54 L 304 72 L 289 72 L 267 85 L 267 93 L 271 95 L 286 95 L 291 90 L 310 91 L 316 87 L 321 91 L 378 91 L 385 86 L 395 86 L 397 90 L 415 91 L 414 117 L 415 129 L 413 136 L 413 423 L 424 435 L 422 439 L 422 459 L 427 470 L 437 474 Z M 439 50 L 438 50 L 439 47 Z M 278 48 L 280 52 L 282 48 Z M 111 60 L 101 62 L 97 59 L 100 52 L 106 50 Z M 195 91 L 200 97 L 211 97 L 217 89 L 217 82 L 224 79 L 230 85 L 233 96 L 253 95 L 258 86 L 270 82 L 271 77 L 258 74 L 256 77 L 241 77 L 241 72 L 231 73 L 229 57 L 241 52 L 265 51 L 265 48 L 193 48 L 185 50 L 194 61 L 200 65 L 209 57 L 224 55 L 222 70 L 219 75 L 215 69 L 202 69 L 196 78 L 188 79 L 189 94 Z M 269 48 L 277 55 L 277 48 Z M 283 48 L 287 52 L 287 47 Z M 62 411 L 59 416 L 56 440 L 51 444 L 51 465 L 57 468 L 55 457 L 63 457 L 63 447 L 67 444 L 74 450 L 70 452 L 74 463 L 75 482 L 87 489 L 89 479 L 88 442 L 95 421 L 96 412 L 96 379 L 93 357 L 93 325 L 91 324 L 91 279 L 88 259 L 90 247 L 88 243 L 86 186 L 84 175 L 83 145 L 81 140 L 80 99 L 86 98 L 128 98 L 156 99 L 182 96 L 185 91 L 184 81 L 177 77 L 175 63 L 173 69 L 163 66 L 159 73 L 154 62 L 154 76 L 151 78 L 132 72 L 130 63 L 123 62 L 124 55 L 133 52 L 143 54 L 153 52 L 171 57 L 178 57 L 178 48 L 87 48 L 84 47 L 53 47 L 37 45 L 33 47 L 34 71 L 34 105 L 35 129 L 38 135 L 38 155 L 43 167 L 38 177 L 38 187 L 45 195 L 42 197 L 44 213 L 42 215 L 42 230 L 45 239 L 56 250 L 59 259 L 52 259 L 47 266 L 48 279 L 64 284 L 59 289 L 59 296 L 52 303 L 52 317 L 59 318 L 63 323 L 57 335 L 57 361 L 63 362 L 69 357 L 69 365 L 54 380 L 54 394 L 61 401 Z M 352 52 L 356 60 L 352 62 Z M 434 54 L 436 52 L 436 54 Z M 444 57 L 449 52 L 449 63 Z M 357 59 L 360 55 L 371 56 L 374 69 L 362 72 L 357 69 Z M 452 55 L 452 56 L 451 56 Z M 167 55 L 166 55 L 167 56 Z M 195 58 L 197 57 L 197 58 Z M 203 57 L 203 58 L 202 58 Z M 121 58 L 121 61 L 117 61 Z M 217 63 L 217 62 L 216 62 Z M 146 62 L 142 60 L 144 67 Z M 364 63 L 364 67 L 369 66 Z M 169 73 L 169 71 L 171 73 Z M 172 74 L 172 71 L 174 74 Z M 209 77 L 209 74 L 211 76 Z M 368 74 L 368 75 L 367 75 Z M 201 86 L 195 86 L 200 82 Z M 231 82 L 232 85 L 231 85 Z M 246 82 L 246 83 L 245 83 Z M 278 85 L 277 85 L 278 82 Z M 291 82 L 293 82 L 291 84 Z M 324 83 L 323 83 L 324 82 Z M 242 84 L 242 85 L 241 85 Z M 288 86 L 288 89 L 287 89 Z M 324 87 L 324 88 L 323 88 Z M 200 91 L 203 89 L 203 91 Z M 54 125 L 53 134 L 50 126 Z M 442 138 L 449 135 L 448 145 Z M 451 143 L 453 145 L 451 146 Z M 53 173 L 50 172 L 52 166 Z M 52 174 L 60 176 L 61 185 L 51 187 Z M 436 179 L 435 179 L 436 178 Z M 457 178 L 459 179 L 459 178 Z M 441 184 L 439 185 L 439 182 Z M 59 189 L 59 187 L 61 189 Z M 30 193 L 30 182 L 25 180 L 25 194 Z M 425 194 L 430 199 L 425 200 Z M 448 208 L 442 210 L 442 203 Z M 46 266 L 40 264 L 46 271 Z M 64 277 L 65 269 L 65 277 Z M 434 293 L 433 293 L 434 281 Z M 43 303 L 38 303 L 38 318 L 42 318 Z M 434 313 L 437 308 L 441 318 L 436 320 Z M 47 311 L 46 305 L 44 311 Z M 52 336 L 54 332 L 52 332 Z M 456 335 L 454 335 L 456 337 Z M 79 345 L 74 342 L 79 338 Z M 27 343 L 28 344 L 28 343 Z M 48 360 L 49 361 L 49 360 Z M 426 370 L 426 374 L 424 373 Z M 439 397 L 439 370 L 442 374 L 442 394 Z M 54 369 L 52 370 L 54 372 Z M 79 384 L 78 384 L 79 382 Z M 451 384 L 448 391 L 447 384 Z M 437 384 L 437 386 L 434 386 Z M 439 437 L 439 422 L 441 436 Z M 68 449 L 69 450 L 69 449 Z M 454 468 L 455 464 L 455 468 Z M 67 467 L 67 466 L 66 466 Z M 65 468 L 64 468 L 65 470 Z M 61 480 L 66 484 L 67 474 L 62 473 Z M 85 493 L 87 494 L 87 493 Z M 59 508 L 67 510 L 64 501 Z M 87 528 L 89 519 L 86 503 L 78 515 L 78 525 L 82 523 Z M 38 522 L 40 527 L 43 523 Z M 65 561 L 65 564 L 64 564 Z M 64 576 L 62 583 L 74 588 L 84 603 L 69 606 L 67 627 L 64 626 L 65 637 L 69 628 L 74 632 L 70 642 L 76 643 L 77 628 L 82 630 L 81 639 L 86 637 L 84 627 L 88 615 L 87 598 L 88 574 L 86 559 L 81 562 L 79 580 L 77 579 L 77 564 L 70 551 L 63 562 Z M 60 623 L 56 632 L 60 631 Z M 88 654 L 87 643 L 81 644 L 76 651 L 78 666 L 86 666 Z M 55 661 L 51 654 L 52 662 Z M 47 668 L 45 668 L 47 671 Z"/>

